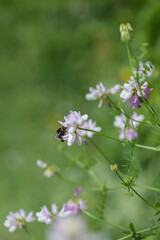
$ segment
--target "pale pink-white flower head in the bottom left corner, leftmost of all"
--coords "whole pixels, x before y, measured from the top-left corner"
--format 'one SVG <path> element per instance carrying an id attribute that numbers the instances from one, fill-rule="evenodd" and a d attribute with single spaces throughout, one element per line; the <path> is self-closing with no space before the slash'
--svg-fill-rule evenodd
<path id="1" fill-rule="evenodd" d="M 26 222 L 34 222 L 33 212 L 26 212 L 20 209 L 19 212 L 10 212 L 4 222 L 4 226 L 8 228 L 9 232 L 14 232 L 16 229 L 22 229 Z"/>

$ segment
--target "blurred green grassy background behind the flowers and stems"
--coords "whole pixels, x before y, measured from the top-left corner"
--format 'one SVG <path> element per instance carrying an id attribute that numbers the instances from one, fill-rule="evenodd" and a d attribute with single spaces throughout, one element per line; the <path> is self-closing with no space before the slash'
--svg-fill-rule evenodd
<path id="1" fill-rule="evenodd" d="M 86 187 L 96 187 L 87 172 L 73 162 L 83 154 L 107 186 L 120 185 L 109 165 L 92 147 L 67 147 L 55 141 L 58 120 L 69 110 L 80 110 L 97 121 L 103 132 L 118 137 L 114 115 L 98 102 L 87 102 L 89 86 L 102 81 L 106 87 L 123 84 L 130 76 L 125 44 L 121 43 L 119 24 L 130 22 L 134 28 L 132 48 L 139 53 L 141 43 L 149 43 L 146 60 L 156 70 L 150 86 L 154 87 L 151 104 L 160 109 L 160 2 L 157 0 L 1 0 L 0 1 L 0 239 L 27 240 L 23 231 L 9 233 L 3 222 L 9 211 L 24 208 L 39 211 L 46 204 L 59 208 L 72 198 L 74 187 L 57 176 L 43 177 L 36 160 L 53 163 L 61 175 Z M 145 59 L 144 59 L 145 60 Z M 115 102 L 118 97 L 113 97 Z M 124 104 L 128 113 L 131 109 Z M 144 107 L 137 111 L 150 115 Z M 137 142 L 160 144 L 160 131 L 142 126 Z M 126 164 L 121 144 L 99 136 L 94 141 L 113 162 Z M 160 187 L 160 154 L 136 150 L 141 163 L 137 183 Z M 72 162 L 72 164 L 71 164 Z M 151 202 L 154 192 L 139 191 Z M 124 190 L 107 194 L 105 216 L 108 221 L 128 226 L 134 222 L 140 230 L 150 226 L 154 211 L 137 197 L 129 198 Z M 96 214 L 100 194 L 84 190 L 89 211 Z M 124 236 L 117 229 L 90 222 L 92 230 L 106 230 L 110 239 Z M 35 239 L 45 239 L 46 225 L 29 225 Z M 160 235 L 148 239 L 160 239 Z"/>

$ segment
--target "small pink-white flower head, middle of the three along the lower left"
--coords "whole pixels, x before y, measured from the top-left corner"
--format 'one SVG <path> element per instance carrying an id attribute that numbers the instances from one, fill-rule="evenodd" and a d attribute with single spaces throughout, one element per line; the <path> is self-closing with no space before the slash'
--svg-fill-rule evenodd
<path id="1" fill-rule="evenodd" d="M 58 214 L 58 208 L 55 203 L 52 204 L 52 211 L 50 212 L 48 208 L 44 205 L 41 207 L 41 211 L 36 213 L 39 222 L 44 222 L 50 224 Z"/>

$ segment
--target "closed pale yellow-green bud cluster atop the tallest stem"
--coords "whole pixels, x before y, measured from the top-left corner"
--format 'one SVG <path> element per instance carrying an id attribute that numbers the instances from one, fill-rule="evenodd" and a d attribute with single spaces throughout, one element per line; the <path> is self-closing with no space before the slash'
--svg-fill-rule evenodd
<path id="1" fill-rule="evenodd" d="M 120 24 L 120 34 L 121 34 L 121 41 L 122 42 L 129 42 L 131 39 L 131 33 L 133 31 L 133 28 L 130 23 L 122 23 Z"/>

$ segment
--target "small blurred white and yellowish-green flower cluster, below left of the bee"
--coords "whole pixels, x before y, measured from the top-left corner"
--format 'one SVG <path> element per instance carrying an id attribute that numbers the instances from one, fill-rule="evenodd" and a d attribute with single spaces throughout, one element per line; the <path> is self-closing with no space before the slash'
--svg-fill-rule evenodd
<path id="1" fill-rule="evenodd" d="M 42 160 L 37 160 L 37 166 L 40 168 L 45 168 L 44 176 L 47 178 L 53 177 L 56 173 L 60 171 L 59 168 L 57 168 L 55 165 L 47 165 Z"/>

